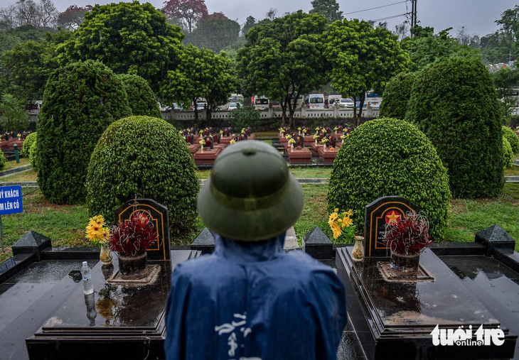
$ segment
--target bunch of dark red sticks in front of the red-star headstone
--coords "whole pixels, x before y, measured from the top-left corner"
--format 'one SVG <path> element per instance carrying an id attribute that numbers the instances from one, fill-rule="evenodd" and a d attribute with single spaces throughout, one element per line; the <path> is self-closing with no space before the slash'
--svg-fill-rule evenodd
<path id="1" fill-rule="evenodd" d="M 416 212 L 407 212 L 405 219 L 385 224 L 385 241 L 394 253 L 422 253 L 434 242 L 429 235 L 429 219 Z"/>

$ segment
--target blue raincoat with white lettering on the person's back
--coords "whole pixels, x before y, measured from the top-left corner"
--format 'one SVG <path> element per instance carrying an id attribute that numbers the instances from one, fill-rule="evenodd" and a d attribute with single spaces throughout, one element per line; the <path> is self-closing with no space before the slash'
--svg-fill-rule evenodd
<path id="1" fill-rule="evenodd" d="M 336 359 L 346 294 L 328 266 L 284 253 L 284 234 L 176 266 L 166 308 L 166 359 Z"/>

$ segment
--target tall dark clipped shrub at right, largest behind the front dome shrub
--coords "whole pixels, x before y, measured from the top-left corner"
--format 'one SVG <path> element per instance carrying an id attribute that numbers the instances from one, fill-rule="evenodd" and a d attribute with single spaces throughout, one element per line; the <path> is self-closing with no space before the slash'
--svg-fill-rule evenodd
<path id="1" fill-rule="evenodd" d="M 447 58 L 424 67 L 413 82 L 405 119 L 417 124 L 436 147 L 454 197 L 501 193 L 500 105 L 481 61 Z"/>

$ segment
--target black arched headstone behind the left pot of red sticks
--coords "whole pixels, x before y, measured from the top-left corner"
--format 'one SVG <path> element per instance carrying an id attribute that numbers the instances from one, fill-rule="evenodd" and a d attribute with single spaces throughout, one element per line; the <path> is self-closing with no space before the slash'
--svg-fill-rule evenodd
<path id="1" fill-rule="evenodd" d="M 115 219 L 118 222 L 129 221 L 136 212 L 144 212 L 154 224 L 157 232 L 157 241 L 148 249 L 149 260 L 169 261 L 169 217 L 168 208 L 151 199 L 136 199 L 125 202 L 115 209 Z"/>

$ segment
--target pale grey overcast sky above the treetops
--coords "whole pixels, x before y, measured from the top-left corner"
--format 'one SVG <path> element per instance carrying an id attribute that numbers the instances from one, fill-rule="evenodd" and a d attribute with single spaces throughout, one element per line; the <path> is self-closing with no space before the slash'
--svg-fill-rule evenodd
<path id="1" fill-rule="evenodd" d="M 12 4 L 15 1 L 9 2 Z M 70 5 L 94 5 L 92 0 L 53 0 L 53 2 L 58 11 L 65 11 Z M 118 1 L 97 0 L 95 4 L 110 2 Z M 164 6 L 164 0 L 148 2 L 157 9 Z M 305 12 L 311 9 L 311 0 L 205 0 L 205 4 L 209 13 L 223 12 L 225 16 L 240 24 L 245 23 L 247 16 L 254 16 L 256 20 L 265 18 L 265 13 L 271 8 L 277 9 L 277 16 L 299 9 Z M 346 18 L 387 21 L 387 28 L 390 30 L 393 30 L 398 23 L 405 21 L 406 18 L 401 16 L 402 14 L 411 11 L 411 2 L 401 0 L 338 0 L 338 4 Z M 469 33 L 485 36 L 498 29 L 495 21 L 501 18 L 501 13 L 507 9 L 513 9 L 517 4 L 517 0 L 417 0 L 417 18 L 420 25 L 434 27 L 435 33 L 445 28 L 453 28 L 451 34 L 456 36 L 456 31 L 461 26 L 465 26 Z M 379 6 L 382 7 L 363 11 Z"/>

